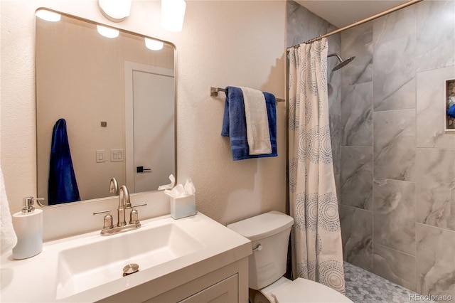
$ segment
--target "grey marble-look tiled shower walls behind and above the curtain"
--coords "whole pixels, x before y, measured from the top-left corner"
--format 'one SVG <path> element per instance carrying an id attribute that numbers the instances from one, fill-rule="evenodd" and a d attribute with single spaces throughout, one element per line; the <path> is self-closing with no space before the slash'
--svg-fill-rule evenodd
<path id="1" fill-rule="evenodd" d="M 287 46 L 333 30 L 288 1 Z M 455 1 L 422 1 L 328 40 L 355 60 L 330 73 L 345 260 L 421 294 L 455 298 Z"/>

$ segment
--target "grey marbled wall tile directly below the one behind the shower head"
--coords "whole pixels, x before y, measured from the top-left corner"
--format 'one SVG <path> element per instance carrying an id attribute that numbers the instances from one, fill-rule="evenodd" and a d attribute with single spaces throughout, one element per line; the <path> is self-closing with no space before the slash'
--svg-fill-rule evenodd
<path id="1" fill-rule="evenodd" d="M 345 146 L 373 146 L 373 82 L 341 88 L 341 127 Z"/>

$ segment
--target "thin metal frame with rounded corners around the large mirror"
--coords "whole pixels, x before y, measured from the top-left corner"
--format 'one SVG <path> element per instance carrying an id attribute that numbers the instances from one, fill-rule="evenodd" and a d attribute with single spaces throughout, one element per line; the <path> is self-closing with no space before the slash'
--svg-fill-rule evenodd
<path id="1" fill-rule="evenodd" d="M 96 25 L 101 25 L 101 26 L 105 26 L 105 27 L 108 27 L 108 28 L 113 28 L 113 29 L 116 29 L 117 31 L 121 31 L 123 33 L 127 33 L 127 34 L 130 34 L 130 35 L 134 35 L 134 36 L 139 36 L 141 38 L 151 38 L 151 39 L 154 39 L 156 41 L 161 41 L 161 42 L 164 42 L 166 44 L 168 44 L 169 46 L 171 46 L 171 48 L 173 48 L 173 68 L 174 68 L 174 167 L 175 167 L 175 170 L 173 172 L 173 176 L 175 177 L 175 179 L 177 180 L 177 171 L 178 171 L 178 167 L 177 167 L 177 48 L 175 46 L 174 43 L 171 43 L 170 41 L 165 41 L 165 40 L 162 40 L 162 39 L 159 39 L 159 38 L 154 38 L 154 37 L 151 37 L 151 36 L 145 36 L 141 33 L 135 33 L 133 31 L 128 31 L 127 29 L 124 29 L 124 28 L 117 28 L 115 26 L 110 26 L 110 25 L 107 25 L 107 24 L 104 24 L 104 23 L 99 23 L 99 22 L 96 22 L 96 21 L 92 21 L 92 20 L 89 20 L 87 18 L 82 18 L 80 16 L 74 16 L 74 15 L 71 15 L 71 14 L 66 14 L 66 13 L 63 13 L 61 11 L 56 11 L 54 9 L 49 9 L 47 7 L 38 7 L 38 9 L 36 9 L 36 11 L 39 11 L 39 10 L 46 10 L 46 11 L 52 11 L 53 13 L 56 13 L 56 14 L 60 14 L 62 16 L 65 16 L 65 17 L 68 17 L 68 18 L 75 18 L 77 19 L 78 21 L 83 21 L 83 22 L 87 22 L 87 23 L 92 23 L 94 24 L 95 26 Z M 35 11 L 35 13 L 36 13 Z M 35 18 L 39 18 L 38 16 L 35 15 Z M 36 22 L 35 22 L 35 30 L 36 30 Z M 36 32 L 35 32 L 35 108 L 37 106 L 37 102 L 38 102 L 38 98 L 37 98 L 37 95 L 36 95 L 36 92 L 37 92 L 37 81 L 36 81 L 36 58 L 37 58 L 37 54 L 36 54 Z M 35 146 L 37 147 L 38 146 L 38 112 L 36 111 L 35 112 L 35 139 L 36 139 L 36 142 L 35 142 Z M 126 162 L 125 162 L 125 166 L 126 166 Z M 36 149 L 36 171 L 38 172 L 38 149 Z M 125 171 L 125 174 L 126 171 Z M 106 188 L 108 188 L 108 184 L 106 185 Z M 141 191 L 141 192 L 138 192 L 138 193 L 131 193 L 130 196 L 136 196 L 136 195 L 139 195 L 139 194 L 144 194 L 144 193 L 154 193 L 154 192 L 158 192 L 158 190 L 154 190 L 154 191 Z M 36 196 L 38 197 L 38 173 L 36 174 Z M 114 197 L 117 197 L 117 196 L 105 196 L 105 197 L 100 197 L 100 198 L 93 198 L 93 199 L 88 199 L 88 200 L 81 200 L 81 201 L 73 201 L 73 202 L 67 202 L 67 203 L 60 203 L 60 204 L 55 204 L 55 205 L 45 205 L 43 203 L 40 202 L 39 198 L 37 200 L 37 203 L 38 205 L 41 207 L 41 208 L 57 208 L 57 207 L 61 207 L 61 206 L 72 206 L 72 205 L 75 205 L 75 204 L 82 204 L 82 203 L 95 203 L 97 201 L 103 201 L 103 200 L 107 200 L 107 199 L 110 199 L 110 198 L 114 198 Z"/>

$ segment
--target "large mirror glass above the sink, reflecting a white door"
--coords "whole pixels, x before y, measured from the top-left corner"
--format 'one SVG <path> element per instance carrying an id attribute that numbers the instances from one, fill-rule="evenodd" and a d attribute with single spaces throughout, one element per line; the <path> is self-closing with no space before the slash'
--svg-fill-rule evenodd
<path id="1" fill-rule="evenodd" d="M 107 36 L 114 37 L 107 38 L 100 34 L 100 24 L 53 12 L 60 21 L 36 17 L 41 203 L 79 200 L 48 202 L 48 193 L 68 188 L 77 190 L 81 201 L 114 196 L 111 178 L 130 193 L 168 184 L 169 175 L 176 176 L 175 46 L 109 26 L 114 32 Z M 69 152 L 59 149 L 65 142 Z M 68 175 L 70 164 L 74 178 Z M 49 179 L 50 171 L 60 176 L 57 181 Z"/>

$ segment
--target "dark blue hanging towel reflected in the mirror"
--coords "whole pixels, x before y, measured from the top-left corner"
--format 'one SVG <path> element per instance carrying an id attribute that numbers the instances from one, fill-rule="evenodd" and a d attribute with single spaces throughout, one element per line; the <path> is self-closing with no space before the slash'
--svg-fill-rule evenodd
<path id="1" fill-rule="evenodd" d="M 80 201 L 65 119 L 58 119 L 52 132 L 48 199 L 49 205 Z"/>

